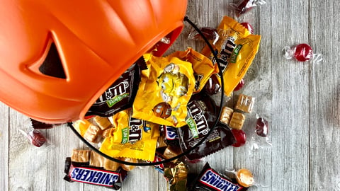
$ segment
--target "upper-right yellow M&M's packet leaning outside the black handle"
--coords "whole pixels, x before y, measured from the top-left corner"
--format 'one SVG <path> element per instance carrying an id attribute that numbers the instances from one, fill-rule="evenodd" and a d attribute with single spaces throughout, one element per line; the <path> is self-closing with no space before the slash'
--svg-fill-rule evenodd
<path id="1" fill-rule="evenodd" d="M 230 96 L 253 62 L 261 36 L 252 35 L 244 26 L 227 16 L 222 19 L 217 32 L 220 35 L 215 43 L 217 59 L 222 66 L 225 94 Z M 212 59 L 213 63 L 216 62 L 208 46 L 203 48 L 202 54 Z"/>

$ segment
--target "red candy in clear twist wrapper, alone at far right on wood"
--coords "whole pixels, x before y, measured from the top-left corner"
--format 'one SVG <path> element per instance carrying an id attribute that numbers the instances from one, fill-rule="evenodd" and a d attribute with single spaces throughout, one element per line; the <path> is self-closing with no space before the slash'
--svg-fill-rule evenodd
<path id="1" fill-rule="evenodd" d="M 283 47 L 284 57 L 286 59 L 292 59 L 293 57 L 299 62 L 307 62 L 311 60 L 313 63 L 319 63 L 322 61 L 322 54 L 315 54 L 312 47 L 307 44 L 299 44 L 292 47 Z"/>

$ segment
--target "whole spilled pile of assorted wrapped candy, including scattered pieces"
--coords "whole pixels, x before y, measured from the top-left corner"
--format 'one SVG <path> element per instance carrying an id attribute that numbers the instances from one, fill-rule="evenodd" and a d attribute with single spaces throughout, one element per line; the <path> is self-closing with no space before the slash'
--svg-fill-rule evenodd
<path id="1" fill-rule="evenodd" d="M 244 0 L 231 6 L 241 16 L 261 4 L 265 2 Z M 167 57 L 155 57 L 155 45 L 96 100 L 86 113 L 86 120 L 73 122 L 73 126 L 103 154 L 120 161 L 157 163 L 185 153 L 182 158 L 154 166 L 164 173 L 168 190 L 247 190 L 254 185 L 249 170 L 222 174 L 206 163 L 200 174 L 189 175 L 187 163 L 195 163 L 227 146 L 246 144 L 242 127 L 254 108 L 255 98 L 239 94 L 236 105 L 226 107 L 225 103 L 215 103 L 212 97 L 219 93 L 231 96 L 244 86 L 244 75 L 259 49 L 261 36 L 253 34 L 249 23 L 238 23 L 227 16 L 217 28 L 203 26 L 200 31 L 217 57 L 208 45 L 201 52 L 189 47 Z M 200 39 L 195 30 L 188 35 L 188 40 Z M 168 41 L 164 37 L 160 43 Z M 305 62 L 313 57 L 312 48 L 306 44 L 285 47 L 285 57 Z M 53 126 L 32 122 L 35 129 L 23 134 L 40 147 L 47 140 L 37 128 Z M 268 141 L 266 117 L 256 114 L 253 128 L 252 140 Z M 193 146 L 197 147 L 192 149 Z M 118 190 L 133 168 L 95 151 L 74 149 L 66 159 L 64 180 Z"/>

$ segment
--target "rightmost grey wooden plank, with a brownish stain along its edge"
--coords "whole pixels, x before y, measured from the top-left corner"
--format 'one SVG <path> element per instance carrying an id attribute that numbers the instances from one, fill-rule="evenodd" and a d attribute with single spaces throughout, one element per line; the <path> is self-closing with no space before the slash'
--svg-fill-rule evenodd
<path id="1" fill-rule="evenodd" d="M 310 43 L 324 57 L 310 65 L 310 190 L 340 190 L 339 6 L 310 3 Z"/>

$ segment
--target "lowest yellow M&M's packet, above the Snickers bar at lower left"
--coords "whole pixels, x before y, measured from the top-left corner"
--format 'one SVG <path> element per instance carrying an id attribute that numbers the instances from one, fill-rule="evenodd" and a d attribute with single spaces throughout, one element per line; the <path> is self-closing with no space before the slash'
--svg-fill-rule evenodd
<path id="1" fill-rule="evenodd" d="M 132 117 L 132 108 L 113 115 L 115 128 L 101 145 L 100 151 L 112 157 L 154 160 L 159 125 Z"/>

